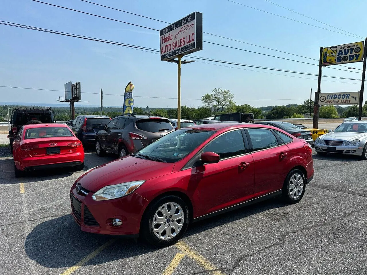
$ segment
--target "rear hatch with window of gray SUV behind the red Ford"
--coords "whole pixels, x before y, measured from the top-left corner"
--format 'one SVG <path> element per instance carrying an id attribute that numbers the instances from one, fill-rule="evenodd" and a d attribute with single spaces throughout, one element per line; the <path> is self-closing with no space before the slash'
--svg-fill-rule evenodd
<path id="1" fill-rule="evenodd" d="M 173 130 L 172 124 L 165 118 L 147 118 L 136 122 L 137 133 L 146 137 L 141 139 L 143 146 L 156 141 Z"/>

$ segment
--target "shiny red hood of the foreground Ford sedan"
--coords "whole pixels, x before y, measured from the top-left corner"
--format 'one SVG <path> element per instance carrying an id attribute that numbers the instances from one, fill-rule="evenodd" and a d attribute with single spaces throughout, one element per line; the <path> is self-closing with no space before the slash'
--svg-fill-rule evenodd
<path id="1" fill-rule="evenodd" d="M 149 180 L 172 173 L 174 164 L 127 156 L 84 173 L 77 182 L 96 192 L 102 187 L 134 180 Z"/>

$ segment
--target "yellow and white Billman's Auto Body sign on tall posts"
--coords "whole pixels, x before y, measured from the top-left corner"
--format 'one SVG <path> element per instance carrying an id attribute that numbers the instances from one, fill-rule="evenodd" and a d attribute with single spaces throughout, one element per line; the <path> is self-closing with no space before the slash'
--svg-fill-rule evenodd
<path id="1" fill-rule="evenodd" d="M 323 48 L 322 65 L 361 62 L 363 53 L 364 41 Z"/>

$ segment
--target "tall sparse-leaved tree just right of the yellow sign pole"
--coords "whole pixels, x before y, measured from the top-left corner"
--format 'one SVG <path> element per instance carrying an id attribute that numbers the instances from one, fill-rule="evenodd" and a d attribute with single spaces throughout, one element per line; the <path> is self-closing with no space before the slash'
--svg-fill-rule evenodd
<path id="1" fill-rule="evenodd" d="M 213 109 L 214 114 L 222 113 L 226 108 L 233 108 L 233 95 L 229 90 L 216 88 L 211 94 L 205 94 L 201 97 L 203 107 Z"/>

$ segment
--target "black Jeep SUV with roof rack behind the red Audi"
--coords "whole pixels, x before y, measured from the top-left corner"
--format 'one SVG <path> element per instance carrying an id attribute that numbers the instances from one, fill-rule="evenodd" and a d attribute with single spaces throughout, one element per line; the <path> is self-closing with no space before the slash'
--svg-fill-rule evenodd
<path id="1" fill-rule="evenodd" d="M 26 124 L 55 123 L 55 114 L 51 107 L 14 107 L 11 112 L 11 128 L 9 134 L 17 135 L 19 129 Z M 10 140 L 10 150 L 13 152 L 14 139 Z"/>

